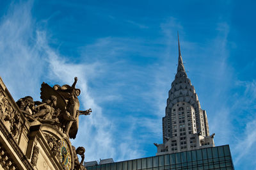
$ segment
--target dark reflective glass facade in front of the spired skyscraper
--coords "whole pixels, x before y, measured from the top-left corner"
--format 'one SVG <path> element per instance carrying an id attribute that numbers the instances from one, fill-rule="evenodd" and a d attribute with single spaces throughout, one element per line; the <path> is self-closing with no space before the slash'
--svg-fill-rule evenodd
<path id="1" fill-rule="evenodd" d="M 86 167 L 87 170 L 234 169 L 228 145 Z"/>

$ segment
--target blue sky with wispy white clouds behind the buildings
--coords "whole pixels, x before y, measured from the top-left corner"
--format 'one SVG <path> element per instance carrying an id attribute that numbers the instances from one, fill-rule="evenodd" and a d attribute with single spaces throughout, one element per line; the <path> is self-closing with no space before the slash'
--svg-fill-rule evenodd
<path id="1" fill-rule="evenodd" d="M 79 78 L 93 113 L 72 144 L 86 161 L 156 154 L 179 31 L 215 144 L 255 169 L 255 1 L 0 1 L 0 16 L 0 76 L 15 100 Z"/>

